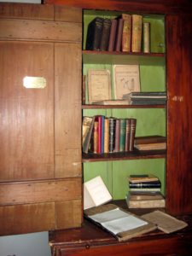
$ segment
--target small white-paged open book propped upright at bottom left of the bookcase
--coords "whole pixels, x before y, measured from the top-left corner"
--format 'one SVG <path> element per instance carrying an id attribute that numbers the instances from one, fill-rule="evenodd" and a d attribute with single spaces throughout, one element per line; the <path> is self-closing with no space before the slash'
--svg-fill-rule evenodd
<path id="1" fill-rule="evenodd" d="M 94 201 L 96 207 L 112 200 L 112 196 L 108 192 L 105 183 L 103 183 L 102 177 L 95 177 L 89 182 L 84 183 L 84 186 L 88 193 L 90 193 L 90 197 Z"/>

